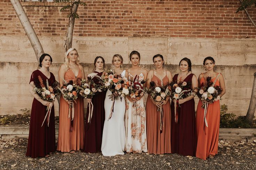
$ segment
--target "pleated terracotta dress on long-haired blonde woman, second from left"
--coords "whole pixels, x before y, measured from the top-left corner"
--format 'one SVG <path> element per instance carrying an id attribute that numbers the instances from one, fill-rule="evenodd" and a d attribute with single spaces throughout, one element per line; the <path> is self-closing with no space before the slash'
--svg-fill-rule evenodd
<path id="1" fill-rule="evenodd" d="M 65 73 L 65 81 L 82 79 L 82 71 L 79 69 L 75 76 L 71 69 Z M 84 147 L 84 99 L 78 97 L 74 102 L 75 115 L 73 118 L 73 128 L 71 128 L 71 116 L 68 117 L 69 104 L 61 97 L 60 99 L 60 123 L 57 150 L 61 152 L 78 151 Z"/>

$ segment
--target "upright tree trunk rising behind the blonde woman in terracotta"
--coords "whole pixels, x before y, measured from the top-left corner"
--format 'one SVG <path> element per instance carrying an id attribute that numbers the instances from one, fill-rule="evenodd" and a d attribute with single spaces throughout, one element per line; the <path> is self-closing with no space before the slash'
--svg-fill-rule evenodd
<path id="1" fill-rule="evenodd" d="M 80 1 L 80 0 L 76 0 Z M 74 4 L 72 7 L 72 14 L 75 14 L 77 12 L 79 4 Z M 68 24 L 68 29 L 67 29 L 67 40 L 65 41 L 64 47 L 65 51 L 68 51 L 68 49 L 72 48 L 72 40 L 73 40 L 73 29 L 75 25 L 75 19 L 74 17 L 69 18 L 69 24 Z"/>

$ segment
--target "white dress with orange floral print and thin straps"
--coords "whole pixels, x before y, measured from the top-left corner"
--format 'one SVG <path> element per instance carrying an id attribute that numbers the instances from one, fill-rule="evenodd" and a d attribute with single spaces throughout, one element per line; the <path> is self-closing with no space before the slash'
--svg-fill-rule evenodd
<path id="1" fill-rule="evenodd" d="M 130 74 L 129 80 L 134 78 Z M 144 75 L 139 75 L 139 82 L 144 79 Z M 147 152 L 147 132 L 146 132 L 146 111 L 144 107 L 144 96 L 136 102 L 136 107 L 133 107 L 133 102 L 125 98 L 125 151 L 126 152 Z"/>

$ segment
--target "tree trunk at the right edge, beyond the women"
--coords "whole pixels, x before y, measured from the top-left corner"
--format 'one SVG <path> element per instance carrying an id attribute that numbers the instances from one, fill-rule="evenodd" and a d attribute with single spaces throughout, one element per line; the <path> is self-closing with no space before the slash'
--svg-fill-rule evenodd
<path id="1" fill-rule="evenodd" d="M 245 120 L 250 124 L 253 123 L 255 107 L 256 107 L 256 72 L 254 73 L 253 90 L 251 92 L 250 105 L 245 117 Z"/>

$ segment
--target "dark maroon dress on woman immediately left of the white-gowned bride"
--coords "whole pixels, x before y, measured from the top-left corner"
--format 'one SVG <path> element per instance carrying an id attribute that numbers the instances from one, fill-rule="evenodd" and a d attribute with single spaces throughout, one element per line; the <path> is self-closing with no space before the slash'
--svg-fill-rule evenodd
<path id="1" fill-rule="evenodd" d="M 102 73 L 99 73 L 97 71 L 94 71 L 94 73 L 97 73 L 97 75 L 94 76 L 92 80 L 97 84 L 100 81 L 99 76 L 101 76 Z M 102 133 L 105 121 L 104 101 L 106 92 L 107 91 L 98 92 L 92 97 L 93 114 L 89 123 L 89 105 L 87 106 L 84 140 L 84 152 L 86 153 L 101 152 Z"/>

